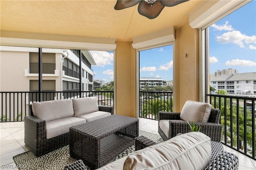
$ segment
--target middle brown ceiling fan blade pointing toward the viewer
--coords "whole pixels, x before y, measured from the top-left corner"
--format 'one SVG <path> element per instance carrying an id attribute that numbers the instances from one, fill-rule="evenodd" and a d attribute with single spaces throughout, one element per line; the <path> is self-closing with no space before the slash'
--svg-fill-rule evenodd
<path id="1" fill-rule="evenodd" d="M 148 4 L 144 1 L 141 1 L 138 6 L 139 14 L 149 19 L 156 18 L 163 9 L 164 9 L 164 5 L 161 4 L 160 1 L 156 1 L 153 4 Z"/>

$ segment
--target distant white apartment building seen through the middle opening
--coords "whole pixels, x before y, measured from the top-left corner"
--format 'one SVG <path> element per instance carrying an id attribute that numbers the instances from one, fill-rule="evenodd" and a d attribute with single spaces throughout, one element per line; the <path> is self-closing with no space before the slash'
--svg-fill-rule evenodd
<path id="1" fill-rule="evenodd" d="M 147 84 L 149 88 L 153 88 L 155 86 L 163 86 L 164 79 L 162 78 L 154 78 L 154 77 L 140 77 L 140 87 L 144 90 L 144 86 Z"/>

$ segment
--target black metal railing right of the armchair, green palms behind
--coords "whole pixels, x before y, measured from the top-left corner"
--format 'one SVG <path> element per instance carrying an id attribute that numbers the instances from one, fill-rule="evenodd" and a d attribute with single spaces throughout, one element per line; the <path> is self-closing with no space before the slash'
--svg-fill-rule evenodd
<path id="1" fill-rule="evenodd" d="M 224 145 L 256 160 L 256 98 L 206 94 L 207 102 L 221 110 Z"/>

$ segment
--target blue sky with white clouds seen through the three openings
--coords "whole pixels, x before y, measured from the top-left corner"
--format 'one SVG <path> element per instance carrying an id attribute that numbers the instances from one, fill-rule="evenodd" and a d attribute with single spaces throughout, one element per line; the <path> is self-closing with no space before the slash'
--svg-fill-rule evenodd
<path id="1" fill-rule="evenodd" d="M 210 74 L 233 68 L 256 72 L 256 0 L 210 26 Z M 94 79 L 114 80 L 114 54 L 90 51 Z M 172 45 L 140 52 L 140 77 L 173 80 Z"/>

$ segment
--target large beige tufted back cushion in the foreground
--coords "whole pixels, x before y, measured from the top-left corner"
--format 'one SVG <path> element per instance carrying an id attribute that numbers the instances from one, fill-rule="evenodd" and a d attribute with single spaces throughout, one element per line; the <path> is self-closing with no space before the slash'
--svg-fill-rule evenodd
<path id="1" fill-rule="evenodd" d="M 202 170 L 210 160 L 210 138 L 201 132 L 190 132 L 129 154 L 123 169 Z"/>

